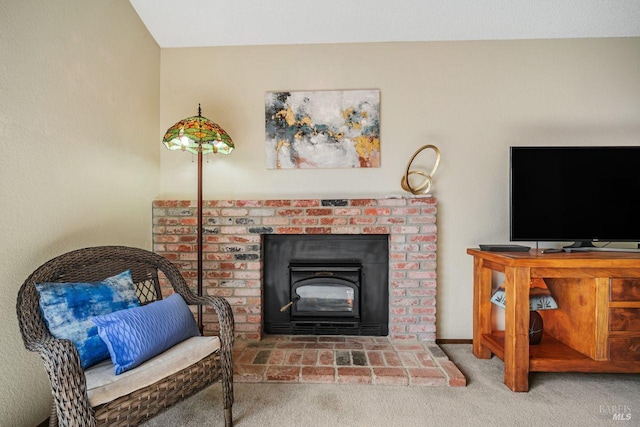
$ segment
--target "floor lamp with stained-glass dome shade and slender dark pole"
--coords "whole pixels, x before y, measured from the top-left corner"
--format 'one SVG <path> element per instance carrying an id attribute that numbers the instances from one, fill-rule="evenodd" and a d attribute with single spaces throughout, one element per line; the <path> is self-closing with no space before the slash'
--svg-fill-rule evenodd
<path id="1" fill-rule="evenodd" d="M 234 145 L 229 134 L 219 125 L 202 117 L 200 104 L 198 115 L 180 120 L 171 126 L 162 138 L 169 150 L 188 151 L 198 156 L 198 296 L 202 296 L 202 157 L 204 154 L 229 154 Z M 198 305 L 198 327 L 204 332 L 202 305 Z"/>

